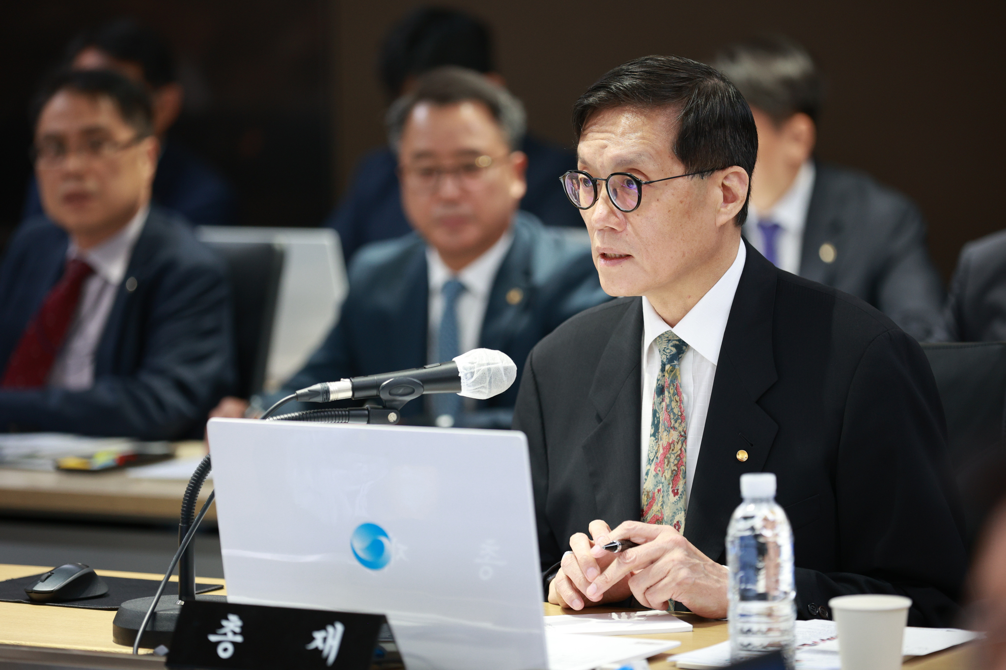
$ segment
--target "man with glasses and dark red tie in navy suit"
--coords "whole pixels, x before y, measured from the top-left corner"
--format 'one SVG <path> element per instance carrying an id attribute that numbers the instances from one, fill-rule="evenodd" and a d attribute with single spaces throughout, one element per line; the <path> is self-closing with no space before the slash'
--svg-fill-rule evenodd
<path id="1" fill-rule="evenodd" d="M 228 290 L 191 226 L 150 205 L 147 92 L 69 71 L 38 99 L 46 216 L 0 265 L 0 430 L 199 435 L 233 382 Z"/>

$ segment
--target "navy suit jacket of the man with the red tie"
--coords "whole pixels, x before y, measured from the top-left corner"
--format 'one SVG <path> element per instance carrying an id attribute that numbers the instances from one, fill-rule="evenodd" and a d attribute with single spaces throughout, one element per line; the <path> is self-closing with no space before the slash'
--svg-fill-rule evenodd
<path id="1" fill-rule="evenodd" d="M 66 262 L 66 233 L 26 221 L 0 265 L 0 370 Z M 202 436 L 234 384 L 222 261 L 186 221 L 156 207 L 133 247 L 85 391 L 0 389 L 0 430 L 40 429 L 148 440 Z"/>

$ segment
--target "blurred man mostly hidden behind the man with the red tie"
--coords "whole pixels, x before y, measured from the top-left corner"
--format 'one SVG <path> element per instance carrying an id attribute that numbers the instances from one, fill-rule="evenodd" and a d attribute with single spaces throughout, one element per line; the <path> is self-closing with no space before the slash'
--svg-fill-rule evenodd
<path id="1" fill-rule="evenodd" d="M 152 30 L 130 20 L 109 23 L 74 39 L 66 50 L 73 69 L 114 69 L 150 90 L 154 135 L 161 155 L 154 178 L 153 201 L 198 225 L 234 223 L 234 196 L 215 170 L 167 133 L 182 110 L 183 90 L 175 76 L 171 51 Z M 24 218 L 42 213 L 38 184 L 28 184 Z"/>

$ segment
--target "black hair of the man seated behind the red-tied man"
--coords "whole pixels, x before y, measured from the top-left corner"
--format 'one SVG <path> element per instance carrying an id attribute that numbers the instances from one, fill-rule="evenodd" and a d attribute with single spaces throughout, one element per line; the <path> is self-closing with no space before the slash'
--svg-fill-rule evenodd
<path id="1" fill-rule="evenodd" d="M 78 34 L 66 48 L 67 65 L 80 51 L 95 47 L 116 60 L 137 63 L 144 81 L 160 88 L 177 81 L 171 48 L 161 35 L 133 19 L 121 18 Z"/>

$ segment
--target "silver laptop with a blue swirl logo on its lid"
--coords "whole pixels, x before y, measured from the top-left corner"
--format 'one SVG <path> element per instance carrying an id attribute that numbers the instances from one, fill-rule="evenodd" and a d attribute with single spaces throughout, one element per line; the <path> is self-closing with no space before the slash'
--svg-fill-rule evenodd
<path id="1" fill-rule="evenodd" d="M 228 600 L 384 614 L 409 670 L 548 666 L 523 433 L 208 431 Z"/>

